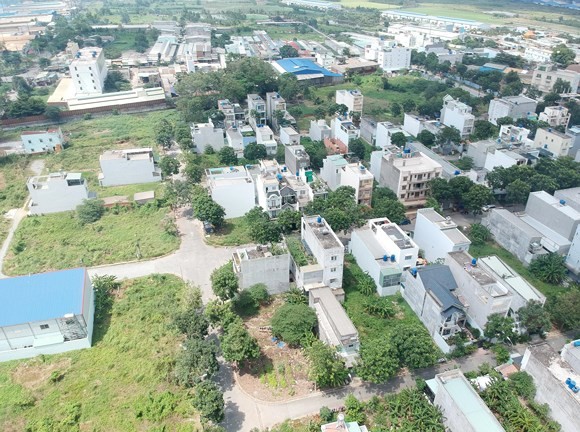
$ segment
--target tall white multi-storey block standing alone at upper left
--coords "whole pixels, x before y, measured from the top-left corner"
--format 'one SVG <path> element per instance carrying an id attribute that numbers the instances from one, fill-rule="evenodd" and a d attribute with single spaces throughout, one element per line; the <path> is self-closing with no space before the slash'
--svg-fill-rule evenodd
<path id="1" fill-rule="evenodd" d="M 99 95 L 105 89 L 107 66 L 102 48 L 81 48 L 69 66 L 75 95 Z"/>

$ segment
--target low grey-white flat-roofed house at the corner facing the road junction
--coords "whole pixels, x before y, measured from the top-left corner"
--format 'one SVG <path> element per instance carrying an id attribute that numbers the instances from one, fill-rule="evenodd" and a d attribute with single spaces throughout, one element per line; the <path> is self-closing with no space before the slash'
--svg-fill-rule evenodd
<path id="1" fill-rule="evenodd" d="M 232 254 L 232 261 L 240 289 L 264 284 L 272 295 L 288 291 L 290 254 L 285 244 L 240 248 Z"/>

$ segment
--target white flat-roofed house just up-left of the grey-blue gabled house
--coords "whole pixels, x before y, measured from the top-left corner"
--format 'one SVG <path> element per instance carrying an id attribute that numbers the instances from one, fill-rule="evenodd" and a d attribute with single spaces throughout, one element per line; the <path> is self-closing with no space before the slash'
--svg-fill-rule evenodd
<path id="1" fill-rule="evenodd" d="M 354 230 L 348 250 L 381 296 L 399 291 L 403 272 L 415 266 L 419 254 L 417 244 L 387 218 L 371 219 Z"/>

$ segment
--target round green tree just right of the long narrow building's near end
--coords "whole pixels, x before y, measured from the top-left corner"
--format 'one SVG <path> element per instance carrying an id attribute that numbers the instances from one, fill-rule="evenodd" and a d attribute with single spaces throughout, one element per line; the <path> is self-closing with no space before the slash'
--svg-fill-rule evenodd
<path id="1" fill-rule="evenodd" d="M 397 349 L 384 340 L 364 340 L 359 355 L 356 370 L 364 381 L 384 383 L 395 376 L 399 369 Z"/>

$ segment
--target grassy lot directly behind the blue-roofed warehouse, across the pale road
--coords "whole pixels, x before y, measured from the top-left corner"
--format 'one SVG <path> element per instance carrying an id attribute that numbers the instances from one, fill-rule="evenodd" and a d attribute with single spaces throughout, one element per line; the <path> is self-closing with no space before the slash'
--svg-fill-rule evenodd
<path id="1" fill-rule="evenodd" d="M 9 275 L 23 275 L 77 266 L 95 266 L 167 254 L 179 247 L 179 238 L 167 234 L 167 209 L 145 205 L 107 210 L 97 222 L 81 226 L 74 212 L 24 219 L 4 262 Z M 18 252 L 18 253 L 17 253 Z"/>

